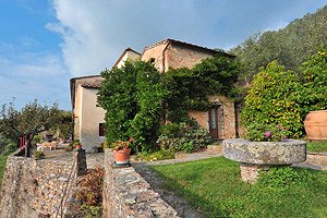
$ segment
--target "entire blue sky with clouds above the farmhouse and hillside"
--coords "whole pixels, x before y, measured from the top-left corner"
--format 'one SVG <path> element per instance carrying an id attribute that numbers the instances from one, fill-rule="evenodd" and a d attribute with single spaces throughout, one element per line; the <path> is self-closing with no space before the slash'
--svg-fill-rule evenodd
<path id="1" fill-rule="evenodd" d="M 69 80 L 111 68 L 126 47 L 174 38 L 229 49 L 327 0 L 0 0 L 0 105 L 71 109 Z"/>

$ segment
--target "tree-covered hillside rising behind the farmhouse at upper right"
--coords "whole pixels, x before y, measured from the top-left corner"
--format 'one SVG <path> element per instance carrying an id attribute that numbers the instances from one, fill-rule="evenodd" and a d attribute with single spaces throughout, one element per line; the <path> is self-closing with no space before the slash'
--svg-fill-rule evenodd
<path id="1" fill-rule="evenodd" d="M 242 80 L 250 81 L 261 66 L 272 60 L 300 71 L 301 63 L 320 48 L 327 48 L 327 5 L 294 20 L 282 29 L 251 36 L 229 52 L 243 63 Z"/>

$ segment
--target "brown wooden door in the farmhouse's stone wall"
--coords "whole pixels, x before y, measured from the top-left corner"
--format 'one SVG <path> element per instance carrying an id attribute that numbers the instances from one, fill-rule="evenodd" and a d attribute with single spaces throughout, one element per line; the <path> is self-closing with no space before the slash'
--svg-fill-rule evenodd
<path id="1" fill-rule="evenodd" d="M 223 110 L 221 105 L 213 105 L 209 110 L 209 131 L 215 140 L 222 140 L 223 133 Z"/>

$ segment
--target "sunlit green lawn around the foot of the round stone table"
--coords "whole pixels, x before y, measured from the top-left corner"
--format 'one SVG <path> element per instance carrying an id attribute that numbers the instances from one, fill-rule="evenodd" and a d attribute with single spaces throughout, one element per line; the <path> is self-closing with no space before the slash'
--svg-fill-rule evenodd
<path id="1" fill-rule="evenodd" d="M 206 217 L 327 217 L 326 171 L 295 169 L 290 185 L 271 186 L 267 180 L 255 185 L 242 182 L 239 164 L 223 157 L 153 169 L 166 189 L 183 196 Z M 290 174 L 282 173 L 290 181 Z M 301 181 L 301 174 L 312 179 Z M 270 182 L 282 184 L 280 178 Z"/>

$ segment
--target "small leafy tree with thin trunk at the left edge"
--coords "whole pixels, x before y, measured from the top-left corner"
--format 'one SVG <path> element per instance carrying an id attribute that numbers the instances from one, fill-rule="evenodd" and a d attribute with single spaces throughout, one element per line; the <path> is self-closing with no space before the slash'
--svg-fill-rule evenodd
<path id="1" fill-rule="evenodd" d="M 34 136 L 58 124 L 61 121 L 59 114 L 57 104 L 48 107 L 35 100 L 26 104 L 21 110 L 16 110 L 14 104 L 11 102 L 2 106 L 0 131 L 4 137 L 14 142 L 17 142 L 19 136 L 24 136 L 26 138 L 25 156 L 29 157 Z"/>

